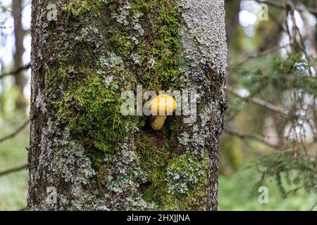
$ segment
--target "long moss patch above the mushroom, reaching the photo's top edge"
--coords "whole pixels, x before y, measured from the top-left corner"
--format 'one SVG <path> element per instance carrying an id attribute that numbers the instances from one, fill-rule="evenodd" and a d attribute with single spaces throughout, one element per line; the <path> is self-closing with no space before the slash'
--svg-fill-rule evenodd
<path id="1" fill-rule="evenodd" d="M 145 89 L 178 88 L 182 20 L 173 0 L 135 0 L 124 8 L 117 4 L 108 3 L 108 8 L 117 8 L 111 18 L 111 47 L 125 58 Z"/>

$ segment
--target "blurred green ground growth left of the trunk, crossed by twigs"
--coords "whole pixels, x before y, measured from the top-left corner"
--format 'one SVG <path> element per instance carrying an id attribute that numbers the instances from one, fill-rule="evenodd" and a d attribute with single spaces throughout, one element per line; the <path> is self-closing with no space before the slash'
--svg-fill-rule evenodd
<path id="1" fill-rule="evenodd" d="M 11 113 L 2 120 L 0 117 L 0 138 L 11 134 L 25 122 L 24 113 Z M 26 127 L 13 139 L 0 143 L 0 172 L 13 167 L 20 167 L 27 163 L 27 150 L 30 129 Z M 27 170 L 21 170 L 0 176 L 0 211 L 21 210 L 26 207 L 27 198 Z"/>

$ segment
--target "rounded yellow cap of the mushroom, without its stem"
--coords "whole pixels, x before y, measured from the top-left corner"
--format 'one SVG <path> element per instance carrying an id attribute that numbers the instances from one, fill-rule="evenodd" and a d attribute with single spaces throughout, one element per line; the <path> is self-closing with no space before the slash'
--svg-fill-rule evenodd
<path id="1" fill-rule="evenodd" d="M 160 94 L 151 100 L 149 110 L 152 115 L 169 115 L 176 109 L 176 101 L 168 94 Z"/>

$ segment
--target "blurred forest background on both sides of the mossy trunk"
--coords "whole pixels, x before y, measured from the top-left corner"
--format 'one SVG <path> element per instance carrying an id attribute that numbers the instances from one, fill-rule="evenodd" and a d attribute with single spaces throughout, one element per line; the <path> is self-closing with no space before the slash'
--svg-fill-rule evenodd
<path id="1" fill-rule="evenodd" d="M 225 0 L 225 9 L 219 210 L 317 210 L 317 1 Z M 30 12 L 30 0 L 0 0 L 0 210 L 26 207 Z"/>

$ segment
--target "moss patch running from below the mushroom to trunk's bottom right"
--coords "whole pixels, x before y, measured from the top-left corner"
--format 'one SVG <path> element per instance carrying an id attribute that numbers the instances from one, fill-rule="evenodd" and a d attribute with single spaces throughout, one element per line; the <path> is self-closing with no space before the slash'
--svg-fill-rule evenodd
<path id="1" fill-rule="evenodd" d="M 207 210 L 201 208 L 208 200 L 207 155 L 201 160 L 190 152 L 178 155 L 168 150 L 165 142 L 157 134 L 136 134 L 137 156 L 142 171 L 147 172 L 143 199 L 158 205 L 159 210 Z"/>

